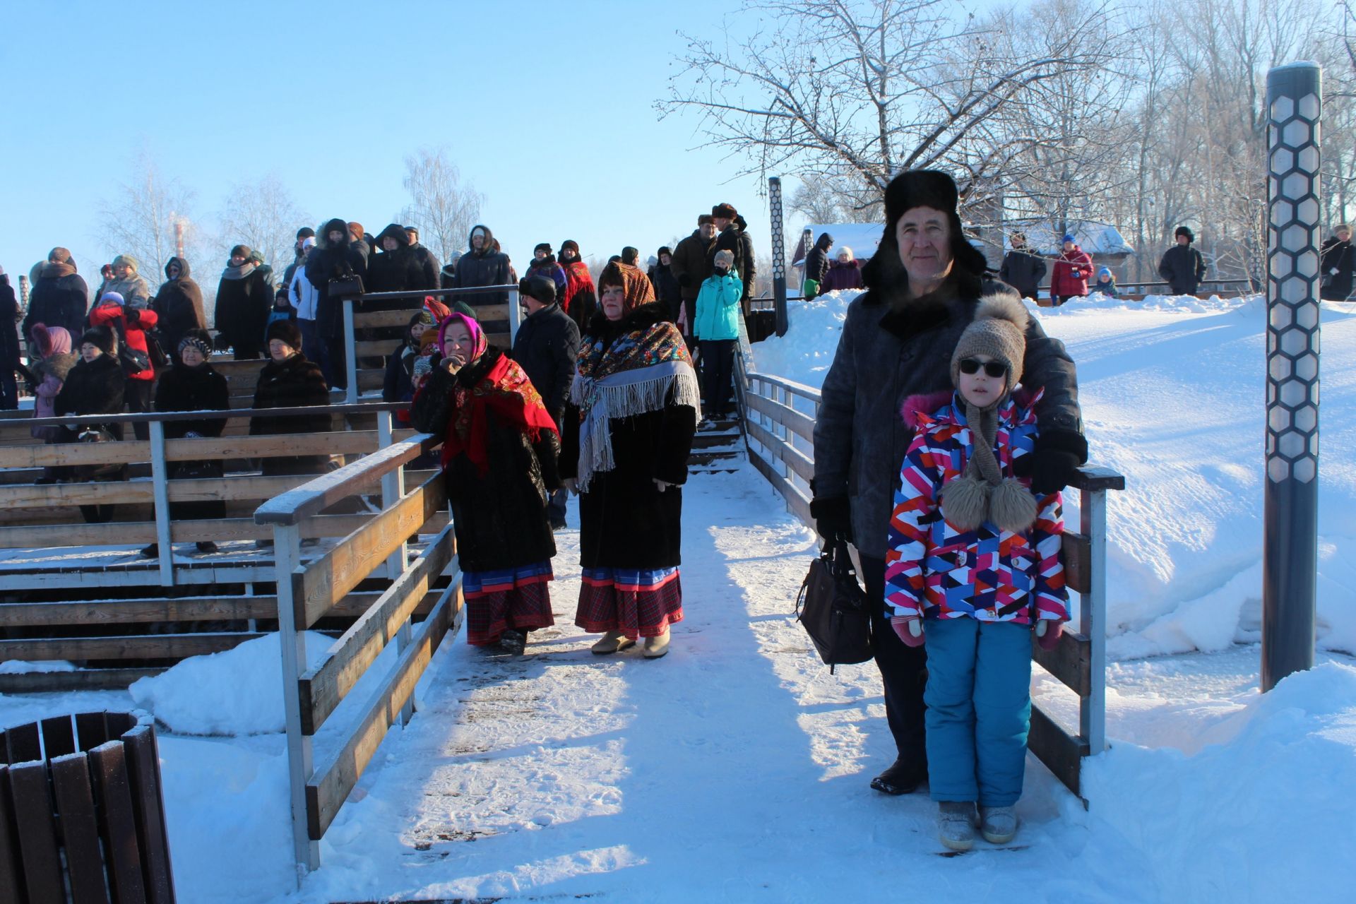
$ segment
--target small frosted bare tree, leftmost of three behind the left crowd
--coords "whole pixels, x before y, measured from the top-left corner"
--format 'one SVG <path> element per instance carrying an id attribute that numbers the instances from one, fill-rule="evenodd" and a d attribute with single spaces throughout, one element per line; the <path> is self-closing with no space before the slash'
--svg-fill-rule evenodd
<path id="1" fill-rule="evenodd" d="M 183 226 L 186 248 L 198 245 L 193 201 L 191 188 L 178 179 L 165 178 L 146 152 L 138 153 L 132 178 L 118 183 L 117 194 L 100 203 L 104 251 L 132 255 L 141 262 L 142 275 L 153 283 L 156 271 L 175 253 L 175 224 Z"/>

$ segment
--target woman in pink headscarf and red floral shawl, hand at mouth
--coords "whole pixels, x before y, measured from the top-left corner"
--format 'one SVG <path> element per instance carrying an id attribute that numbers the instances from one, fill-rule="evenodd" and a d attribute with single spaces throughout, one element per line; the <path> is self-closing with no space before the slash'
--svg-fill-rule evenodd
<path id="1" fill-rule="evenodd" d="M 532 381 L 473 317 L 443 320 L 438 347 L 412 411 L 415 427 L 443 436 L 466 640 L 522 653 L 527 632 L 556 623 L 546 497 L 560 488 L 560 435 Z"/>

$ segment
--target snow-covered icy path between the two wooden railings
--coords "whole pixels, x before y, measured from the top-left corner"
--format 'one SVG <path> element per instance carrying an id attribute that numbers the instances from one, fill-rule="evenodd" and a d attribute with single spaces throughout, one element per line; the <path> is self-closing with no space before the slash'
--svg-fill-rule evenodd
<path id="1" fill-rule="evenodd" d="M 875 668 L 827 668 L 792 600 L 812 554 L 753 470 L 685 496 L 686 621 L 670 655 L 598 657 L 572 626 L 574 531 L 557 625 L 529 655 L 438 655 L 420 713 L 393 733 L 297 900 L 590 895 L 603 900 L 930 900 L 999 884 L 1039 897 L 1157 900 L 1115 834 L 1028 762 L 1021 850 L 938 857 L 933 804 L 887 798 Z M 571 512 L 574 518 L 574 512 Z M 361 797 L 361 800 L 358 800 Z"/>

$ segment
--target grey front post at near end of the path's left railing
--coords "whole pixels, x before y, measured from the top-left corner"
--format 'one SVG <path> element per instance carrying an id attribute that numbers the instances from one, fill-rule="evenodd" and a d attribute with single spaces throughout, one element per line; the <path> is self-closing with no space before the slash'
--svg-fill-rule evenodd
<path id="1" fill-rule="evenodd" d="M 348 304 L 344 302 L 346 312 L 351 310 Z M 274 525 L 273 552 L 278 572 L 278 640 L 282 646 L 282 707 L 287 722 L 292 848 L 297 865 L 297 888 L 301 888 L 306 873 L 320 866 L 320 843 L 311 840 L 306 820 L 306 782 L 315 771 L 315 752 L 311 737 L 301 733 L 301 698 L 297 694 L 297 680 L 306 670 L 305 626 L 297 630 L 297 603 L 292 592 L 292 575 L 301 561 L 301 529 L 297 525 Z"/>

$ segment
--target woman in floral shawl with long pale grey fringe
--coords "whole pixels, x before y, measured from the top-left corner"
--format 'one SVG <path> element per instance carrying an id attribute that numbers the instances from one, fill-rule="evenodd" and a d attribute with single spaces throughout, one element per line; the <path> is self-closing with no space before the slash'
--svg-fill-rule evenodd
<path id="1" fill-rule="evenodd" d="M 561 436 L 560 472 L 579 493 L 575 625 L 603 632 L 595 653 L 644 637 L 645 656 L 658 659 L 669 652 L 669 626 L 682 621 L 682 484 L 697 428 L 697 374 L 645 274 L 610 263 L 598 293 Z"/>

